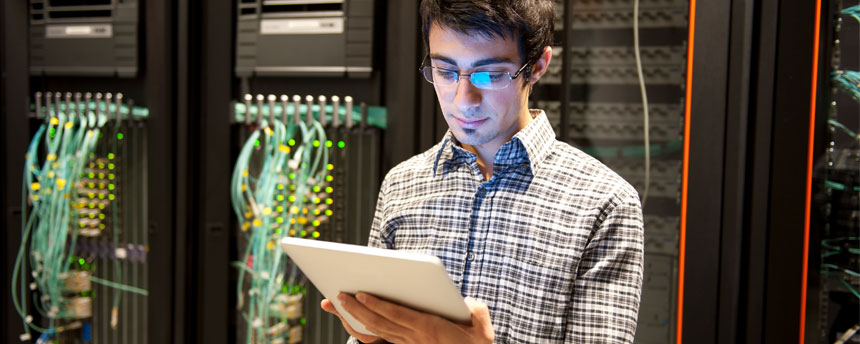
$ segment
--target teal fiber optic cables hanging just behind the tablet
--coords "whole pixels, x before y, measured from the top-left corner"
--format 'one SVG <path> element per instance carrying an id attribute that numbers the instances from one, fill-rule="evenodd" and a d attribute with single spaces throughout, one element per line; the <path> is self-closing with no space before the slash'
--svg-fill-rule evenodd
<path id="1" fill-rule="evenodd" d="M 233 211 L 242 231 L 249 234 L 242 261 L 233 264 L 239 268 L 238 306 L 240 309 L 247 307 L 242 317 L 248 326 L 248 343 L 262 338 L 286 339 L 284 337 L 289 336 L 286 328 L 278 330 L 279 326 L 285 326 L 288 313 L 283 308 L 276 311 L 273 307 L 278 304 L 281 306 L 277 307 L 286 307 L 287 287 L 289 292 L 296 292 L 296 287 L 305 281 L 296 281 L 299 274 L 295 265 L 289 264 L 276 244 L 288 235 L 305 235 L 305 230 L 299 230 L 311 222 L 307 219 L 311 215 L 305 202 L 320 202 L 320 196 L 315 193 L 321 188 L 316 184 L 327 182 L 326 176 L 331 169 L 328 149 L 333 145 L 327 144 L 322 124 L 310 115 L 306 120 L 295 120 L 302 110 L 314 111 L 313 104 L 294 106 L 291 114 L 294 120 L 288 120 L 289 113 L 284 103 L 281 102 L 283 113 L 279 119 L 274 117 L 276 108 L 273 101 L 268 107 L 260 104 L 256 109 L 245 107 L 245 123 L 250 123 L 253 114 L 262 120 L 268 110 L 269 116 L 268 120 L 258 122 L 259 127 L 243 144 L 231 178 Z M 317 117 L 326 115 L 326 107 L 317 108 L 320 110 Z M 253 166 L 258 168 L 252 168 L 255 156 L 260 161 Z M 310 185 L 315 186 L 311 188 Z M 312 222 L 317 226 L 319 220 Z M 249 279 L 247 287 L 246 275 Z M 273 326 L 275 318 L 279 318 L 281 325 Z"/>

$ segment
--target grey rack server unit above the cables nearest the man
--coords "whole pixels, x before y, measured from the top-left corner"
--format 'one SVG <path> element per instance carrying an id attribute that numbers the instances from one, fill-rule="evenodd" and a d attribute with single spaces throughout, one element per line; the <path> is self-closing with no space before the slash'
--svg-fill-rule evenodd
<path id="1" fill-rule="evenodd" d="M 236 76 L 372 72 L 373 0 L 238 0 Z"/>

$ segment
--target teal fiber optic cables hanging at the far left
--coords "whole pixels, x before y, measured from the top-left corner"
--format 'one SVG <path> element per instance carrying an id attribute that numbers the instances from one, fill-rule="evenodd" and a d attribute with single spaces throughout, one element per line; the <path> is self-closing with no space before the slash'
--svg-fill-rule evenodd
<path id="1" fill-rule="evenodd" d="M 90 102 L 91 95 L 87 94 L 83 104 L 80 102 L 80 94 L 76 95 L 74 108 L 71 93 L 66 93 L 64 103 L 60 101 L 59 93 L 54 97 L 55 101 L 52 103 L 50 94 L 46 96 L 46 123 L 39 127 L 25 155 L 22 203 L 29 204 L 32 209 L 28 212 L 25 207 L 23 210 L 22 240 L 12 278 L 13 303 L 24 320 L 25 334 L 22 338 L 29 338 L 31 330 L 49 335 L 62 332 L 69 327 L 56 326 L 55 322 L 76 316 L 75 310 L 70 308 L 73 306 L 71 300 L 64 296 L 63 286 L 69 278 L 66 276 L 69 276 L 71 271 L 71 258 L 78 236 L 78 230 L 70 226 L 70 220 L 73 215 L 77 215 L 77 209 L 83 206 L 78 199 L 73 200 L 72 195 L 76 192 L 75 188 L 82 177 L 87 160 L 98 146 L 110 113 L 115 113 L 119 119 L 123 111 L 128 115 L 134 112 L 132 107 L 123 108 L 119 103 L 114 106 L 110 102 L 102 102 L 101 94 L 96 95 L 95 103 Z M 117 95 L 118 102 L 120 97 L 121 95 Z M 36 113 L 40 115 L 41 94 L 37 94 L 36 98 Z M 111 97 L 107 98 L 110 100 Z M 118 124 L 119 122 L 114 128 L 115 133 L 119 130 Z M 38 158 L 40 143 L 45 147 L 45 158 L 41 164 Z M 117 222 L 114 215 L 114 247 L 118 247 Z M 48 318 L 47 327 L 32 323 L 32 316 L 24 299 L 27 294 L 27 277 L 22 272 L 27 248 L 30 250 L 28 260 L 33 278 L 30 289 L 38 290 L 41 295 L 37 297 L 36 293 L 32 294 L 34 306 L 40 314 Z M 117 265 L 118 276 L 121 275 L 120 271 Z M 89 277 L 93 282 L 116 290 L 146 294 L 146 291 L 140 288 Z M 120 299 L 119 294 L 115 294 L 115 300 Z M 115 304 L 118 302 L 115 301 Z"/>

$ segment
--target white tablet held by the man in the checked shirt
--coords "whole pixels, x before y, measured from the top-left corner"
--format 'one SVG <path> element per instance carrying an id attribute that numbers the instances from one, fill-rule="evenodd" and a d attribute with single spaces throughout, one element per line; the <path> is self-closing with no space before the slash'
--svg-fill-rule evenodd
<path id="1" fill-rule="evenodd" d="M 374 335 L 343 310 L 337 300 L 341 292 L 365 292 L 452 321 L 471 322 L 469 307 L 435 256 L 299 238 L 284 238 L 281 247 L 358 332 Z"/>

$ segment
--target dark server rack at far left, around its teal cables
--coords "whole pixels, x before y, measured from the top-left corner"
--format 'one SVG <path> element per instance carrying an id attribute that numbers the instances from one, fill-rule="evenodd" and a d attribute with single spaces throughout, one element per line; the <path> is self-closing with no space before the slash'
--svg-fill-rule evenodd
<path id="1" fill-rule="evenodd" d="M 91 4 L 91 3 L 90 3 Z M 125 284 L 137 284 L 140 286 L 148 284 L 149 296 L 137 297 L 127 295 L 118 308 L 118 323 L 116 329 L 111 329 L 111 310 L 96 305 L 92 318 L 92 340 L 98 342 L 171 342 L 174 329 L 174 317 L 177 310 L 183 308 L 183 300 L 175 298 L 175 257 L 177 251 L 173 246 L 175 235 L 184 232 L 184 214 L 178 213 L 174 205 L 183 202 L 177 196 L 176 184 L 174 182 L 174 145 L 175 136 L 164 135 L 173 133 L 175 129 L 174 116 L 174 46 L 173 42 L 173 6 L 167 1 L 147 1 L 138 7 L 135 1 L 113 1 L 107 4 L 98 4 L 101 7 L 110 7 L 111 15 L 120 16 L 120 21 L 134 26 L 128 31 L 125 24 L 114 22 L 111 33 L 115 40 L 105 43 L 98 41 L 95 37 L 80 38 L 75 42 L 63 42 L 62 39 L 48 42 L 54 39 L 49 34 L 50 28 L 40 31 L 35 26 L 47 23 L 51 20 L 48 12 L 76 12 L 71 13 L 75 20 L 66 20 L 64 23 L 71 26 L 72 22 L 80 25 L 81 15 L 93 14 L 105 9 L 77 8 L 78 5 L 87 5 L 81 2 L 20 2 L 4 1 L 2 11 L 2 22 L 4 23 L 2 50 L 3 59 L 3 95 L 2 105 L 4 113 L 4 171 L 5 174 L 3 190 L 3 212 L 5 228 L 4 239 L 7 243 L 6 261 L 4 264 L 5 280 L 11 281 L 12 262 L 14 254 L 18 252 L 21 233 L 16 229 L 21 228 L 21 215 L 23 207 L 21 204 L 20 186 L 22 183 L 23 154 L 22 148 L 30 139 L 31 133 L 39 124 L 39 119 L 30 117 L 33 113 L 32 103 L 35 102 L 36 91 L 61 91 L 61 92 L 85 92 L 85 91 L 109 91 L 121 92 L 125 99 L 134 99 L 137 105 L 145 106 L 152 113 L 145 124 L 133 120 L 126 121 L 121 127 L 126 141 L 119 145 L 119 150 L 113 152 L 116 158 L 116 197 L 120 204 L 121 247 L 114 247 L 99 240 L 89 240 L 77 247 L 81 255 L 94 254 L 94 263 L 109 268 L 114 261 L 122 260 L 125 253 L 123 278 L 114 275 L 101 275 L 110 269 L 101 270 L 96 275 L 116 279 L 115 282 Z M 86 7 L 86 6 L 85 6 Z M 52 12 L 52 13 L 53 13 Z M 80 13 L 78 13 L 80 12 Z M 101 12 L 99 12 L 101 13 Z M 42 17 L 39 17 L 39 16 Z M 46 17 L 47 16 L 47 17 Z M 65 16 L 61 14 L 59 16 Z M 114 16 L 114 19 L 118 18 Z M 58 16 L 55 15 L 56 19 Z M 146 34 L 138 35 L 136 23 L 139 18 L 148 18 Z M 38 24 L 38 25 L 36 25 Z M 54 23 L 56 24 L 56 23 Z M 35 26 L 34 26 L 35 25 Z M 65 25 L 65 24 L 64 24 Z M 101 31 L 103 23 L 90 26 L 90 33 L 105 34 Z M 121 27 L 122 26 L 122 27 Z M 66 30 L 68 33 L 69 30 Z M 71 30 L 72 34 L 83 33 Z M 130 36 L 123 36 L 124 34 Z M 35 35 L 35 36 L 34 36 Z M 99 37 L 102 38 L 102 37 Z M 138 38 L 141 40 L 138 41 Z M 77 38 L 76 38 L 77 39 Z M 121 42 L 120 42 L 121 41 Z M 56 43 L 56 44 L 55 44 Z M 105 43 L 105 44 L 102 44 Z M 138 49 L 146 45 L 147 49 Z M 63 45 L 66 44 L 66 45 Z M 62 48 L 65 46 L 65 48 Z M 74 54 L 72 47 L 86 48 L 83 55 Z M 69 50 L 61 58 L 56 49 Z M 104 50 L 107 49 L 107 50 Z M 65 51 L 64 50 L 64 51 Z M 88 54 L 99 51 L 103 56 L 88 59 Z M 117 53 L 119 51 L 119 53 Z M 125 55 L 123 55 L 125 54 Z M 116 64 L 111 61 L 120 61 Z M 117 57 L 116 59 L 114 59 Z M 58 59 L 59 58 L 59 59 Z M 146 69 L 138 70 L 138 58 L 145 61 Z M 95 63 L 90 66 L 88 63 Z M 82 67 L 83 66 L 83 67 Z M 89 68 L 89 67 L 93 68 Z M 67 68 L 68 67 L 68 68 Z M 80 67 L 80 68 L 79 68 Z M 121 76 L 122 78 L 119 78 Z M 30 114 L 30 115 L 28 115 Z M 96 152 L 102 155 L 105 152 Z M 105 157 L 106 158 L 106 157 Z M 94 185 L 102 183 L 100 173 L 108 174 L 109 168 L 102 169 L 98 163 L 105 161 L 93 160 L 94 178 L 88 177 L 87 182 Z M 105 177 L 108 178 L 108 177 Z M 107 180 L 107 179 L 105 179 Z M 99 186 L 100 187 L 100 186 Z M 107 188 L 107 185 L 105 186 Z M 98 193 L 98 192 L 96 192 Z M 182 226 L 174 231 L 178 224 Z M 132 246 L 128 246 L 130 244 Z M 141 247 L 143 246 L 143 247 Z M 98 253 L 97 253 L 98 252 Z M 9 257 L 12 257 L 11 260 Z M 134 257 L 136 262 L 132 262 Z M 142 258 L 142 259 L 139 259 Z M 179 274 L 178 276 L 183 276 Z M 184 278 L 184 277 L 181 277 Z M 148 282 L 147 282 L 148 281 Z M 3 338 L 4 342 L 19 342 L 19 335 L 23 333 L 21 320 L 12 309 L 9 298 L 10 290 L 8 283 L 2 288 L 4 317 Z M 109 294 L 106 288 L 97 287 L 94 292 L 96 301 L 107 301 Z M 177 302 L 178 301 L 178 302 Z M 32 308 L 31 308 L 32 309 Z M 38 317 L 37 317 L 38 319 Z M 102 326 L 102 327 L 100 327 Z M 36 334 L 36 337 L 38 334 Z M 35 340 L 35 337 L 33 338 Z"/>

